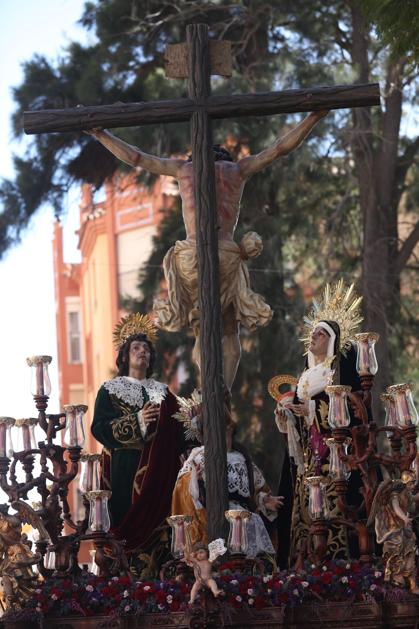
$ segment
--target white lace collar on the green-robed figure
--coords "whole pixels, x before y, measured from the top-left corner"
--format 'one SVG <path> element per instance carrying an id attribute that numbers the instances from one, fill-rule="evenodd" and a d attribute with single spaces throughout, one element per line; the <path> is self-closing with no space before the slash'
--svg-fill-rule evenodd
<path id="1" fill-rule="evenodd" d="M 167 385 L 152 378 L 137 380 L 130 376 L 116 376 L 113 380 L 103 383 L 109 393 L 116 395 L 130 406 L 144 406 L 143 387 L 152 404 L 161 404 L 167 394 Z"/>

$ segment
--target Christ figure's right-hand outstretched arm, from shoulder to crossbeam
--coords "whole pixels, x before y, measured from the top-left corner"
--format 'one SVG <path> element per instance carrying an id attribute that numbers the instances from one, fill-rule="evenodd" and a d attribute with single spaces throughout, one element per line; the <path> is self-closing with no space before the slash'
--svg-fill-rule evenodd
<path id="1" fill-rule="evenodd" d="M 262 170 L 269 164 L 273 164 L 280 157 L 286 157 L 294 148 L 298 148 L 299 145 L 305 140 L 315 124 L 325 118 L 330 109 L 324 109 L 322 111 L 312 111 L 303 121 L 299 123 L 294 129 L 289 131 L 282 138 L 279 138 L 271 147 L 259 153 L 259 155 L 250 155 L 250 157 L 242 157 L 238 160 L 237 166 L 242 172 L 243 179 L 249 179 L 255 172 Z"/>

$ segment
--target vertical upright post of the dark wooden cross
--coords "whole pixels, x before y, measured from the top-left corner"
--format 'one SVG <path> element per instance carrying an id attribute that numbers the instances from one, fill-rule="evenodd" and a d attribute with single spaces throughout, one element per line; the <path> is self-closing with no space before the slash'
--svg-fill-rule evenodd
<path id="1" fill-rule="evenodd" d="M 211 94 L 206 25 L 187 26 L 189 92 L 198 104 Z M 218 238 L 211 117 L 198 107 L 191 118 L 194 175 L 201 381 L 204 414 L 205 490 L 208 541 L 227 539 L 227 451 L 225 440 Z"/>

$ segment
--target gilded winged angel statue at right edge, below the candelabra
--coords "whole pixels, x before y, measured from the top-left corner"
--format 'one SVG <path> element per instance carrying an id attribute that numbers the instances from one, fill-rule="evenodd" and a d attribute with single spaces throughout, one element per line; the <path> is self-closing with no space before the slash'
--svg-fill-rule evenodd
<path id="1" fill-rule="evenodd" d="M 382 482 L 367 522 L 367 526 L 371 526 L 375 520 L 377 542 L 384 543 L 384 581 L 399 587 L 409 585 L 411 594 L 419 594 L 416 586 L 416 538 L 409 518 L 412 501 L 419 502 L 419 493 L 411 494 L 415 482 L 413 470 L 402 472 L 398 481 L 387 479 Z"/>

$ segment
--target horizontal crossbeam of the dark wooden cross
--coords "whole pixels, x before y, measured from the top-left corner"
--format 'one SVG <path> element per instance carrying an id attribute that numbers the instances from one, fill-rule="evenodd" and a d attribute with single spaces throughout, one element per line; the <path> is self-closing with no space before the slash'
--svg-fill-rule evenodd
<path id="1" fill-rule="evenodd" d="M 287 89 L 282 92 L 232 94 L 208 96 L 199 100 L 199 107 L 211 118 L 238 118 L 241 116 L 269 116 L 281 113 L 367 107 L 380 104 L 378 83 L 313 89 Z M 190 120 L 196 111 L 194 99 L 156 103 L 117 103 L 99 107 L 71 109 L 45 109 L 25 111 L 23 129 L 33 133 L 82 131 L 102 126 L 111 129 L 120 126 L 154 125 Z"/>

